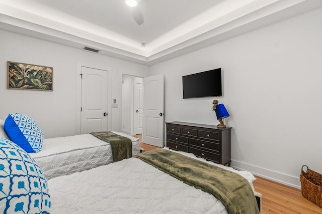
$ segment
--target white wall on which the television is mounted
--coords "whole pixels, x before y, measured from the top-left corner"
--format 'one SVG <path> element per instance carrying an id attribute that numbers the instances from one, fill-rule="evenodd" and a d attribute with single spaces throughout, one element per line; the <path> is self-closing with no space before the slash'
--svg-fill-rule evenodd
<path id="1" fill-rule="evenodd" d="M 232 127 L 232 166 L 300 186 L 303 164 L 322 172 L 322 9 L 150 67 L 165 75 L 165 121 Z M 182 98 L 182 76 L 222 68 L 223 96 Z"/>

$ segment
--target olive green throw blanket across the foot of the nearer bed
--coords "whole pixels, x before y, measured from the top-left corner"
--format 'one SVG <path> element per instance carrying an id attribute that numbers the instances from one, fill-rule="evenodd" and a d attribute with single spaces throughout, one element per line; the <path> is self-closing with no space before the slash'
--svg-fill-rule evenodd
<path id="1" fill-rule="evenodd" d="M 250 183 L 243 176 L 166 149 L 154 149 L 135 156 L 182 180 L 213 194 L 228 213 L 259 213 Z"/>

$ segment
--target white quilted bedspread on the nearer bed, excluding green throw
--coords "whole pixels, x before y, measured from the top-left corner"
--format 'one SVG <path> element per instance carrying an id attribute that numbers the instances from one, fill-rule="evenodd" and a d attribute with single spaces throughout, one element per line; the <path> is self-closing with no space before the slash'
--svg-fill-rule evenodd
<path id="1" fill-rule="evenodd" d="M 53 178 L 48 186 L 51 213 L 227 213 L 213 195 L 137 158 Z"/>

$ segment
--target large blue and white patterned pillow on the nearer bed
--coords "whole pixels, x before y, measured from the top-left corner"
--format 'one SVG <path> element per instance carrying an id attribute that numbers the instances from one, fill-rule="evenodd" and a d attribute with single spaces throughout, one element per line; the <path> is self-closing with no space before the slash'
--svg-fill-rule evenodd
<path id="1" fill-rule="evenodd" d="M 0 137 L 0 210 L 3 213 L 49 213 L 48 184 L 35 160 Z"/>

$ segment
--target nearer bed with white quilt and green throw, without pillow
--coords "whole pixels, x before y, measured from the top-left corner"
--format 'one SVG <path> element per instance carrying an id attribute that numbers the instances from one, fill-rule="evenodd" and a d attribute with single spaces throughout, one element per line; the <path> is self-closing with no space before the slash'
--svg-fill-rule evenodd
<path id="1" fill-rule="evenodd" d="M 166 148 L 155 149 L 53 178 L 48 181 L 52 213 L 260 213 L 253 192 L 255 178 L 250 172 L 237 171 L 190 153 L 180 152 L 178 157 L 177 153 Z M 207 173 L 213 170 L 209 165 L 223 168 L 219 174 L 226 176 L 226 182 Z M 237 179 L 227 177 L 231 172 Z M 191 177 L 197 177 L 197 181 Z M 243 182 L 233 185 L 235 180 Z M 224 185 L 214 187 L 213 183 Z M 247 191 L 241 191 L 244 188 Z M 209 189 L 219 191 L 219 195 L 225 192 L 223 189 L 226 192 L 219 200 Z"/>

